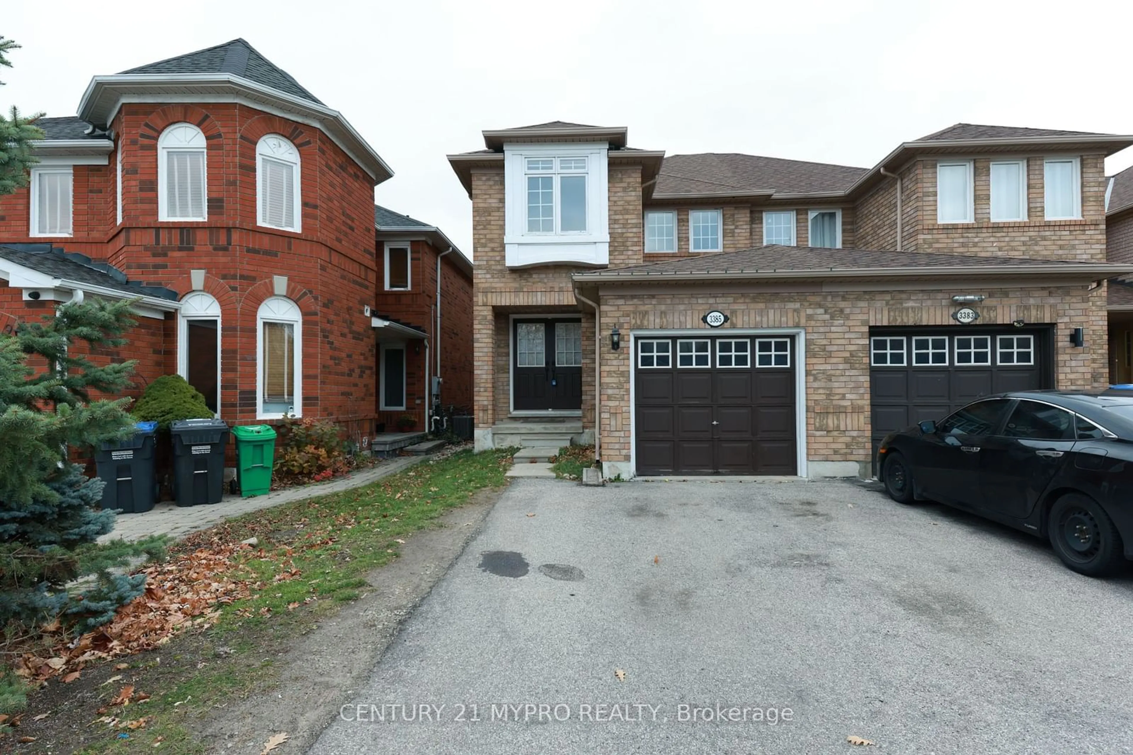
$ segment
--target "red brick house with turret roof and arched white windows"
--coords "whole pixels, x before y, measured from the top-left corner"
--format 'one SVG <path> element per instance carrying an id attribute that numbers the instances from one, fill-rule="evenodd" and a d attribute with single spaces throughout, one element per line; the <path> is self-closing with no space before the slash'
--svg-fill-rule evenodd
<path id="1" fill-rule="evenodd" d="M 435 273 L 419 273 L 420 301 L 383 284 L 374 187 L 393 173 L 340 112 L 233 40 L 95 76 L 77 117 L 39 125 L 29 188 L 0 197 L 0 331 L 78 297 L 140 295 L 119 354 L 139 360 L 138 392 L 179 372 L 230 422 L 293 413 L 358 439 L 389 417 L 382 344 L 426 351 L 443 320 L 424 303 Z M 435 267 L 452 247 L 420 225 L 415 264 Z M 455 314 L 470 264 L 445 259 Z M 442 371 L 446 393 L 467 394 L 470 328 L 442 327 L 442 369 L 463 370 Z M 420 429 L 424 370 L 402 386 Z"/>

